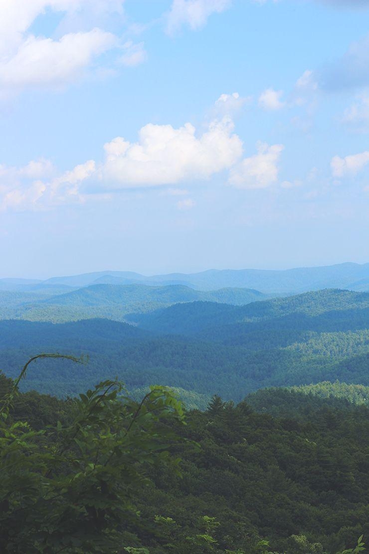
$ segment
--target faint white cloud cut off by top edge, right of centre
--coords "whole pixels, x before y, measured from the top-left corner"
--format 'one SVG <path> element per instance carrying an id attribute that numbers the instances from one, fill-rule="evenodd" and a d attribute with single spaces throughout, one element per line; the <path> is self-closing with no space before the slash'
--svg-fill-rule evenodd
<path id="1" fill-rule="evenodd" d="M 230 6 L 231 0 L 173 0 L 167 16 L 167 32 L 173 35 L 183 25 L 200 29 L 212 13 L 224 12 Z"/>

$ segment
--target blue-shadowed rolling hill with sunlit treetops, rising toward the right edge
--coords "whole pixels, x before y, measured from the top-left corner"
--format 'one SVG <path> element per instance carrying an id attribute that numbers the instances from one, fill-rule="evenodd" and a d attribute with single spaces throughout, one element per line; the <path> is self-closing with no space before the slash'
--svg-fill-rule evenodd
<path id="1" fill-rule="evenodd" d="M 369 293 L 326 289 L 244 306 L 212 302 L 175 304 L 128 318 L 143 329 L 161 334 L 198 335 L 233 342 L 240 333 L 365 329 L 369 324 Z"/>

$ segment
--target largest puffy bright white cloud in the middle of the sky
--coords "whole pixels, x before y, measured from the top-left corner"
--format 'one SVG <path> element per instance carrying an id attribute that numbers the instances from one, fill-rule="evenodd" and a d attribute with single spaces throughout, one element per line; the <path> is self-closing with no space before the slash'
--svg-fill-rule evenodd
<path id="1" fill-rule="evenodd" d="M 199 137 L 190 123 L 179 129 L 145 125 L 138 142 L 116 137 L 104 146 L 101 179 L 116 188 L 132 188 L 209 178 L 230 168 L 242 155 L 242 141 L 233 128 L 228 117 L 212 121 Z"/>

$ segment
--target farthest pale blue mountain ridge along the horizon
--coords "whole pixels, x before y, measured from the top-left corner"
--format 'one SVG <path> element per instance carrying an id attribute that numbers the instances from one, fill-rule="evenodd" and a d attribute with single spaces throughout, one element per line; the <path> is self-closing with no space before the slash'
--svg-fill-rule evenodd
<path id="1" fill-rule="evenodd" d="M 145 276 L 134 271 L 96 271 L 81 275 L 52 277 L 44 281 L 0 279 L 1 290 L 31 290 L 34 286 L 72 286 L 93 284 L 184 285 L 209 291 L 223 288 L 256 289 L 264 294 L 299 294 L 310 290 L 339 288 L 369 290 L 369 263 L 343 263 L 287 270 L 209 269 L 200 273 L 171 273 Z M 10 288 L 10 289 L 9 289 Z"/>

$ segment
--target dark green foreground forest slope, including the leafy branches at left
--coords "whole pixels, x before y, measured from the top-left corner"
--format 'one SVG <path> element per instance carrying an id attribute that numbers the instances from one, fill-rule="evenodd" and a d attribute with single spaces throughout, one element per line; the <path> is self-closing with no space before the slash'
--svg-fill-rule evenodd
<path id="1" fill-rule="evenodd" d="M 365 406 L 281 389 L 277 417 L 251 397 L 183 414 L 163 388 L 119 390 L 9 404 L 0 375 L 2 551 L 343 554 L 369 536 Z"/>

